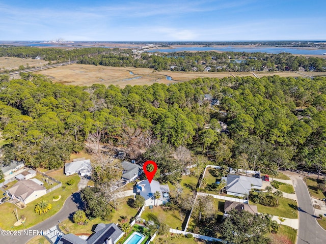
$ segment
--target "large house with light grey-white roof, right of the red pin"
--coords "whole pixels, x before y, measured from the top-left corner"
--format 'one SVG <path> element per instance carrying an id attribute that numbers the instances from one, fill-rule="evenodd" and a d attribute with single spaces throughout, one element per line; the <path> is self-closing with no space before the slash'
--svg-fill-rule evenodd
<path id="1" fill-rule="evenodd" d="M 244 197 L 249 195 L 252 189 L 261 189 L 262 180 L 260 178 L 248 177 L 236 174 L 228 174 L 222 177 L 226 181 L 226 192 L 228 195 Z"/>

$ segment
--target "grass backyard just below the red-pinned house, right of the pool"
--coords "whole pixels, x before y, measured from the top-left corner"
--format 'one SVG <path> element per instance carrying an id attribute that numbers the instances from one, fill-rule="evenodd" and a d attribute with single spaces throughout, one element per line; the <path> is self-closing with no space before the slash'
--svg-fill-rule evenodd
<path id="1" fill-rule="evenodd" d="M 145 207 L 143 214 L 141 216 L 145 220 L 160 221 L 167 224 L 173 229 L 182 229 L 182 222 L 180 214 L 177 210 L 166 210 L 161 206 L 154 206 L 152 211 L 149 207 Z"/>

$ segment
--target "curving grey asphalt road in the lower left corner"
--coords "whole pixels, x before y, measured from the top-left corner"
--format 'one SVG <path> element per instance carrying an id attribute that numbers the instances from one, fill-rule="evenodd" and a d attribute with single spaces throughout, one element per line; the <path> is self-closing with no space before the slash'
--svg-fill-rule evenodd
<path id="1" fill-rule="evenodd" d="M 28 235 L 24 234 L 23 231 L 20 231 L 21 235 L 18 236 L 4 236 L 0 235 L 0 243 L 1 244 L 12 244 L 12 243 L 26 243 L 33 237 L 37 235 L 35 232 L 35 235 L 33 235 L 34 231 L 45 231 L 53 226 L 56 226 L 59 224 L 59 221 L 64 221 L 68 219 L 73 212 L 75 212 L 78 208 L 80 208 L 80 204 L 82 204 L 82 201 L 80 200 L 80 194 L 79 192 L 76 192 L 72 194 L 70 197 L 67 198 L 64 206 L 61 208 L 59 212 L 57 212 L 56 215 L 53 215 L 52 217 L 48 218 L 47 220 L 27 229 L 26 231 L 29 231 Z"/>

